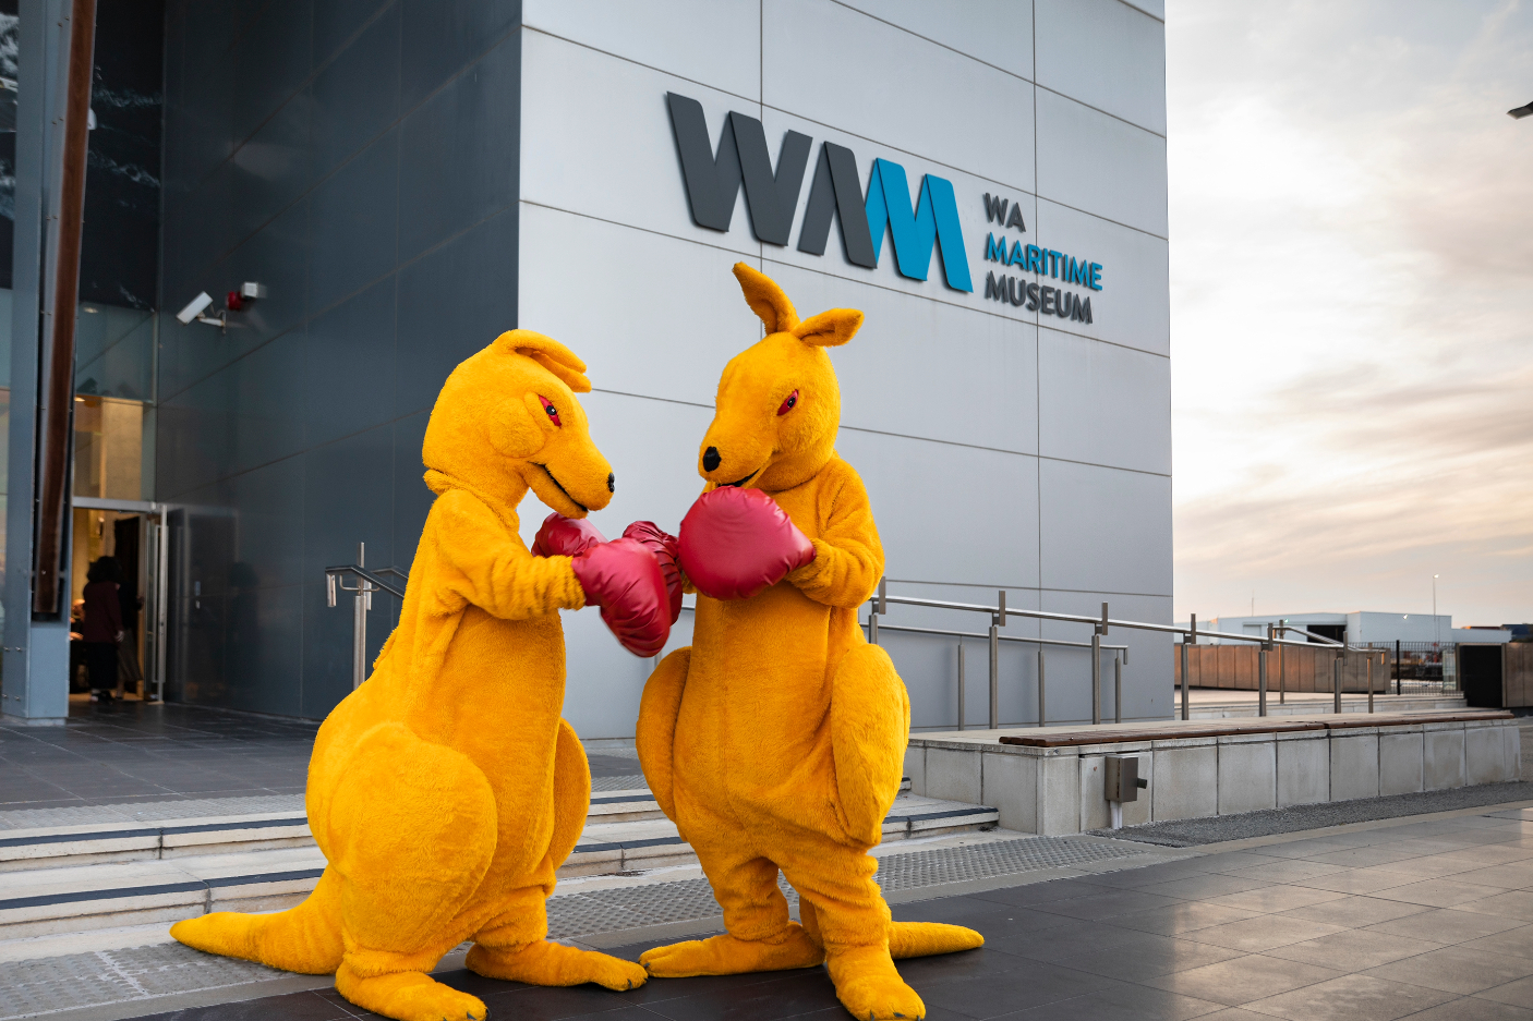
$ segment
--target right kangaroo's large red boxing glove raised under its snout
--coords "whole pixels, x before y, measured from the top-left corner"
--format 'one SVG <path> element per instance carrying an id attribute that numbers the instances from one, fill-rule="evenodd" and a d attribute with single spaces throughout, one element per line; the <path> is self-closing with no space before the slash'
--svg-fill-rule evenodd
<path id="1" fill-rule="evenodd" d="M 705 492 L 681 521 L 681 567 L 698 592 L 750 599 L 814 561 L 814 544 L 760 489 Z"/>

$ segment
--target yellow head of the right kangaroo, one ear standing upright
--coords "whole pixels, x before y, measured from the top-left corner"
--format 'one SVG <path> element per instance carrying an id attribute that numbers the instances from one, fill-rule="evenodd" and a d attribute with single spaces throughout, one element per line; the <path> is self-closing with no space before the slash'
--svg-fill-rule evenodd
<path id="1" fill-rule="evenodd" d="M 713 486 L 779 492 L 812 478 L 835 452 L 842 391 L 825 348 L 851 340 L 862 313 L 832 308 L 800 322 L 768 276 L 744 262 L 734 276 L 766 336 L 724 368 L 698 468 Z"/>

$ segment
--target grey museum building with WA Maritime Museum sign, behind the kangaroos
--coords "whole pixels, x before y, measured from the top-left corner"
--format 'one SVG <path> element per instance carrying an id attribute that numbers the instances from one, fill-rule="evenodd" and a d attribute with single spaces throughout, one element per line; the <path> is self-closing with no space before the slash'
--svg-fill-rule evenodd
<path id="1" fill-rule="evenodd" d="M 0 3 L 6 716 L 67 714 L 103 555 L 141 596 L 129 694 L 325 716 L 354 627 L 325 569 L 362 543 L 409 572 L 437 391 L 515 327 L 589 365 L 596 524 L 675 530 L 719 373 L 760 336 L 737 261 L 805 314 L 866 313 L 832 353 L 837 451 L 889 596 L 1171 622 L 1162 3 L 167 0 L 101 5 L 94 34 L 66 6 Z M 521 504 L 529 544 L 546 514 Z M 397 613 L 374 596 L 368 658 Z M 989 618 L 878 622 L 915 728 L 955 724 L 960 641 L 967 721 L 1036 721 L 1038 645 L 995 645 L 992 710 Z M 595 612 L 564 627 L 564 716 L 632 740 L 652 661 Z M 1170 635 L 1110 642 L 1107 716 L 1170 717 Z M 1050 722 L 1091 717 L 1088 661 L 1047 648 Z"/>

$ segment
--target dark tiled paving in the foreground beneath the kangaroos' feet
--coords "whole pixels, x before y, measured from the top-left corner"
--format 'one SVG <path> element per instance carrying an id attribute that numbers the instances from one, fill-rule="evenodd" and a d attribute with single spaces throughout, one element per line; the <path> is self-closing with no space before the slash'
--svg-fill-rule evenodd
<path id="1" fill-rule="evenodd" d="M 1533 1021 L 1533 809 L 1289 834 L 894 912 L 986 935 L 981 950 L 900 964 L 934 1021 Z M 655 980 L 627 993 L 442 978 L 480 995 L 495 1018 L 846 1016 L 823 969 Z M 305 992 L 153 1016 L 371 1015 L 334 992 Z"/>

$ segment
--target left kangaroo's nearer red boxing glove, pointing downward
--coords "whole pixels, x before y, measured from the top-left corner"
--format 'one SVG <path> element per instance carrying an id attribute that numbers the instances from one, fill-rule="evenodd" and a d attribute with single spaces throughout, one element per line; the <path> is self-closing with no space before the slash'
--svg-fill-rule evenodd
<path id="1" fill-rule="evenodd" d="M 599 543 L 570 560 L 586 606 L 599 606 L 601 619 L 635 656 L 655 656 L 670 638 L 670 598 L 655 553 L 636 540 Z"/>

